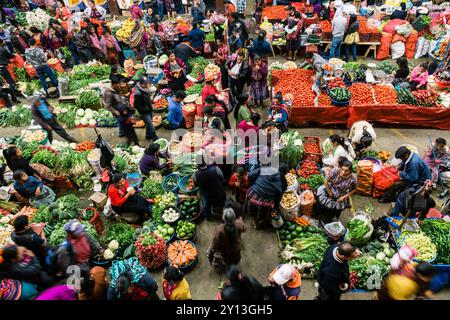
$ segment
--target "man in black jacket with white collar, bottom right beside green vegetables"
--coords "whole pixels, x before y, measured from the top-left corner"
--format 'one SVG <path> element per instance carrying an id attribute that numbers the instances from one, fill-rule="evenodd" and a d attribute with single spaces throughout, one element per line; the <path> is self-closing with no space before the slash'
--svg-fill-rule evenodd
<path id="1" fill-rule="evenodd" d="M 320 301 L 336 301 L 350 289 L 348 262 L 361 255 L 349 242 L 334 244 L 328 248 L 317 274 Z"/>

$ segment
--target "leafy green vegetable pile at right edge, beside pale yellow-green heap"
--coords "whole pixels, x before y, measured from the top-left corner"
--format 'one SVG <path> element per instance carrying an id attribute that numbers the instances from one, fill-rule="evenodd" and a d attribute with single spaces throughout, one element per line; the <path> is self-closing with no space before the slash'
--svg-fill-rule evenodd
<path id="1" fill-rule="evenodd" d="M 450 264 L 450 223 L 425 219 L 420 228 L 437 247 L 436 263 Z"/>

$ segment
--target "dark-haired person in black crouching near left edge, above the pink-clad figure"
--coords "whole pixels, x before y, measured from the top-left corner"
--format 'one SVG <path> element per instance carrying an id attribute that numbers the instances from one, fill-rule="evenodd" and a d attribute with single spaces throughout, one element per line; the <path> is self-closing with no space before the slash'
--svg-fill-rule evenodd
<path id="1" fill-rule="evenodd" d="M 17 245 L 31 250 L 31 252 L 39 259 L 41 266 L 45 268 L 45 257 L 50 248 L 47 246 L 47 241 L 43 234 L 42 236 L 39 236 L 30 228 L 27 215 L 18 216 L 14 219 L 13 225 L 14 232 L 11 235 L 11 239 Z"/>

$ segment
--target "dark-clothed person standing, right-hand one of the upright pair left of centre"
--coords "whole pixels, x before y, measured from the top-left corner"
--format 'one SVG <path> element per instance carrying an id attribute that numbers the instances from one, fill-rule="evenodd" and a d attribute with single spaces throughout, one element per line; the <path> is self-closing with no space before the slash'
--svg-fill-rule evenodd
<path id="1" fill-rule="evenodd" d="M 141 78 L 135 86 L 134 107 L 145 122 L 145 139 L 158 140 L 155 127 L 153 126 L 152 94 L 150 92 L 150 81 L 147 77 Z"/>

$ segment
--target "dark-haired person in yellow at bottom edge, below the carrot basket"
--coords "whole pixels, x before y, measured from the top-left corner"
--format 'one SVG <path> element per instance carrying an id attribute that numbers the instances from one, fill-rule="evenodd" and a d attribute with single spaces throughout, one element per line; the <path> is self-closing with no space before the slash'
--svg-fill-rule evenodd
<path id="1" fill-rule="evenodd" d="M 184 273 L 175 266 L 167 266 L 163 273 L 163 292 L 167 300 L 192 300 Z"/>

